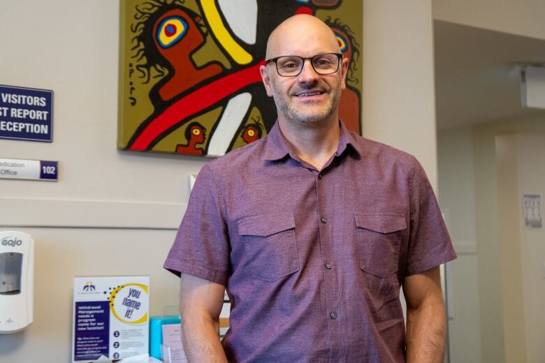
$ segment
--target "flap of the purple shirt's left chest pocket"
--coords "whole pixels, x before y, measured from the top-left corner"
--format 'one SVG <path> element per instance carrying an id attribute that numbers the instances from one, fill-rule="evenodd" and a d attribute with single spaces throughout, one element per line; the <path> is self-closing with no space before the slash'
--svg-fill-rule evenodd
<path id="1" fill-rule="evenodd" d="M 267 237 L 292 228 L 295 228 L 293 214 L 258 214 L 238 221 L 238 234 L 241 236 Z"/>

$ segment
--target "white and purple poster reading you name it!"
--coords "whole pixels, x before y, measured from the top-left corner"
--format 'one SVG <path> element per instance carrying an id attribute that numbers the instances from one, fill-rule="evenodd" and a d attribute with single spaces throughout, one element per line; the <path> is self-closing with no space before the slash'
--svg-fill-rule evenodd
<path id="1" fill-rule="evenodd" d="M 150 276 L 74 278 L 73 362 L 147 354 Z"/>

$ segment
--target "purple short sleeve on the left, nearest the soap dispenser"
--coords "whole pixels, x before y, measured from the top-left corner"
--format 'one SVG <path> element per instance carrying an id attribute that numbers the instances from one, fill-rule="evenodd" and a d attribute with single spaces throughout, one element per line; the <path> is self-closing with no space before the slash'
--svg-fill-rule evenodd
<path id="1" fill-rule="evenodd" d="M 163 267 L 177 276 L 190 274 L 225 286 L 228 261 L 229 239 L 221 194 L 210 167 L 205 165 Z"/>

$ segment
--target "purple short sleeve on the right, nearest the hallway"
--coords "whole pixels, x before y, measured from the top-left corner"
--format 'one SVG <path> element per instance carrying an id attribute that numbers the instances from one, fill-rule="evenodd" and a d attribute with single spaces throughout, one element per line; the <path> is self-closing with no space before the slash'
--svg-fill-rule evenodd
<path id="1" fill-rule="evenodd" d="M 419 274 L 456 258 L 433 188 L 415 159 L 405 276 Z"/>

